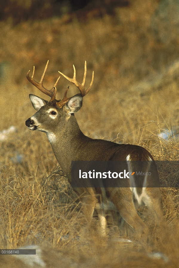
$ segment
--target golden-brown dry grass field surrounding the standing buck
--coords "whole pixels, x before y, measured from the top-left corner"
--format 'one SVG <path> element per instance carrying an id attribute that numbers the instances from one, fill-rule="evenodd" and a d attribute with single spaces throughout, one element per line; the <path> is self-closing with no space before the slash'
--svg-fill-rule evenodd
<path id="1" fill-rule="evenodd" d="M 179 39 L 172 26 L 168 41 L 156 38 L 152 22 L 159 3 L 133 0 L 128 7 L 116 7 L 115 16 L 89 15 L 85 21 L 75 13 L 16 25 L 11 19 L 0 21 L 0 248 L 39 246 L 43 259 L 30 266 L 29 260 L 24 264 L 24 259 L 0 255 L 1 267 L 178 267 L 178 189 L 161 189 L 165 233 L 141 208 L 150 230 L 146 245 L 129 226 L 119 230 L 115 213 L 108 215 L 108 236 L 101 238 L 96 217 L 91 230 L 86 228 L 81 204 L 61 175 L 46 135 L 25 126 L 35 113 L 28 95 L 46 98 L 27 81 L 27 71 L 35 65 L 40 80 L 49 59 L 44 79 L 49 89 L 58 70 L 72 77 L 72 64 L 82 81 L 86 60 L 86 84 L 93 70 L 94 84 L 76 114 L 83 133 L 138 144 L 155 160 L 178 160 L 178 138 L 158 136 L 179 131 Z M 61 77 L 58 99 L 68 85 Z M 68 96 L 75 93 L 70 84 Z"/>

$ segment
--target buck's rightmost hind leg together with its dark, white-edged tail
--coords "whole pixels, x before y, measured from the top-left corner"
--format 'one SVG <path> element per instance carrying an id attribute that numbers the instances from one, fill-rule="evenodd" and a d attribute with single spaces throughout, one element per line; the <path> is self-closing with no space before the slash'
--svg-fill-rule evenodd
<path id="1" fill-rule="evenodd" d="M 145 161 L 132 161 L 135 155 L 126 157 L 129 172 L 138 170 L 134 175 L 129 175 L 135 207 L 137 209 L 143 203 L 147 205 L 152 212 L 155 223 L 158 224 L 163 218 L 163 205 L 157 167 L 149 155 L 141 153 L 141 157 Z"/>

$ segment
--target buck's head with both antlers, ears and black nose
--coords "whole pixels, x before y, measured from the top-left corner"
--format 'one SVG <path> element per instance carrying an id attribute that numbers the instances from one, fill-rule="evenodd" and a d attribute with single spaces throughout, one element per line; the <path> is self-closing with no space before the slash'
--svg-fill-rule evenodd
<path id="1" fill-rule="evenodd" d="M 37 87 L 41 92 L 45 93 L 47 96 L 50 96 L 50 101 L 46 101 L 42 98 L 39 98 L 36 95 L 30 94 L 30 100 L 32 102 L 32 105 L 37 112 L 26 120 L 25 124 L 26 126 L 31 130 L 40 130 L 47 133 L 47 136 L 55 134 L 56 132 L 59 133 L 59 130 L 65 130 L 65 122 L 69 120 L 70 116 L 73 115 L 75 112 L 80 110 L 82 106 L 83 97 L 90 91 L 94 79 L 94 72 L 92 73 L 92 80 L 87 88 L 85 90 L 85 80 L 86 80 L 86 74 L 87 74 L 87 64 L 85 61 L 84 65 L 84 77 L 82 83 L 78 83 L 76 81 L 76 70 L 75 66 L 73 65 L 74 69 L 74 75 L 73 78 L 69 78 L 65 76 L 63 73 L 59 72 L 61 75 L 63 75 L 67 80 L 75 84 L 76 87 L 80 90 L 79 94 L 76 94 L 70 98 L 67 98 L 67 90 L 65 91 L 64 97 L 62 100 L 56 100 L 56 85 L 58 83 L 58 80 L 60 76 L 58 77 L 57 81 L 55 82 L 54 86 L 51 88 L 51 90 L 47 90 L 43 86 L 43 80 L 44 76 L 47 70 L 48 61 L 46 64 L 46 67 L 44 69 L 44 73 L 42 74 L 42 77 L 40 79 L 40 82 L 37 82 L 34 80 L 34 71 L 35 67 L 33 68 L 33 74 L 32 77 L 29 77 L 30 71 L 27 73 L 27 79 L 30 81 L 31 84 L 33 84 L 35 87 Z M 49 138 L 49 137 L 48 137 Z M 50 140 L 50 139 L 49 139 Z"/>

